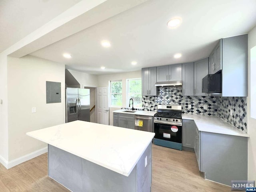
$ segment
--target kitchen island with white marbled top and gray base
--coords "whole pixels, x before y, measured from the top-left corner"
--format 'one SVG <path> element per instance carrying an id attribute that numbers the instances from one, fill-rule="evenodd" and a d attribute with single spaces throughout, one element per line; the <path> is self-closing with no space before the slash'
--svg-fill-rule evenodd
<path id="1" fill-rule="evenodd" d="M 28 136 L 48 144 L 48 175 L 73 192 L 148 192 L 154 133 L 74 121 Z"/>

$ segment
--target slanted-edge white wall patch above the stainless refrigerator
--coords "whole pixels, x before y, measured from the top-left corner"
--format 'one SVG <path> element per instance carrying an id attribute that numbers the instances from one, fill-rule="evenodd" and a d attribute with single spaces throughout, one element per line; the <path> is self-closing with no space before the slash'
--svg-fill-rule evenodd
<path id="1" fill-rule="evenodd" d="M 84 87 L 98 87 L 98 79 L 96 75 L 87 74 L 79 71 L 68 69 L 68 71 L 74 76 L 74 78 L 80 84 L 80 88 Z"/>

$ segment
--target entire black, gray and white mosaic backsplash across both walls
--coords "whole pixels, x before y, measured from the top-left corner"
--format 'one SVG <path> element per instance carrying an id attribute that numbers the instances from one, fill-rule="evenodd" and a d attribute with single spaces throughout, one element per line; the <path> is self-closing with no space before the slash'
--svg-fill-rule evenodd
<path id="1" fill-rule="evenodd" d="M 182 86 L 159 87 L 157 96 L 142 96 L 142 110 L 156 111 L 159 104 L 182 105 L 182 113 L 186 114 L 219 116 L 247 132 L 246 97 L 182 96 Z"/>

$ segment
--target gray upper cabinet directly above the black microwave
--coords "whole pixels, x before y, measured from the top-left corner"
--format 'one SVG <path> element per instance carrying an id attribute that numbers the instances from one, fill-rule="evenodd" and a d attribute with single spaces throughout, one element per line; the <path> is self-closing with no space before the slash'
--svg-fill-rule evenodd
<path id="1" fill-rule="evenodd" d="M 222 39 L 219 40 L 209 58 L 209 74 L 222 70 Z"/>

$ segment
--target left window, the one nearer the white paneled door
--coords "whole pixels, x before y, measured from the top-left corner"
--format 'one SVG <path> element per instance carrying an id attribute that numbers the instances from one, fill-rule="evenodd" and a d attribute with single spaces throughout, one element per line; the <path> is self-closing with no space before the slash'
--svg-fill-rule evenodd
<path id="1" fill-rule="evenodd" d="M 122 106 L 122 80 L 110 81 L 110 106 Z"/>

